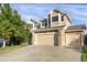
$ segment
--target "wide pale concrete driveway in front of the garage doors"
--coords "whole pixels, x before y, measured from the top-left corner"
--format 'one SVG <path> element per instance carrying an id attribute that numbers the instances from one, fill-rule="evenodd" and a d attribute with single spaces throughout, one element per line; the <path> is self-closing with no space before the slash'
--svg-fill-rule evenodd
<path id="1" fill-rule="evenodd" d="M 9 53 L 0 53 L 0 62 L 79 62 L 78 50 L 54 46 L 25 46 Z"/>

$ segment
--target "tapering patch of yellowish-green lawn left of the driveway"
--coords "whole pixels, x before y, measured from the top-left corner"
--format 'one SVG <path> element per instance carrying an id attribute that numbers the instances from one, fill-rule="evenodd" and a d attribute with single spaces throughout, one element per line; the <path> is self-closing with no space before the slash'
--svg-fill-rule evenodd
<path id="1" fill-rule="evenodd" d="M 0 47 L 0 53 L 11 52 L 11 51 L 24 47 L 24 46 L 26 45 L 13 45 L 13 46 Z"/>

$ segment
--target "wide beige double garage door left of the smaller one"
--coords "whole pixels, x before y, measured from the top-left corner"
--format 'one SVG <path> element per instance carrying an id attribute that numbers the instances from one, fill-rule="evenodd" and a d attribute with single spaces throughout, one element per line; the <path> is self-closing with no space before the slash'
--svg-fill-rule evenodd
<path id="1" fill-rule="evenodd" d="M 54 32 L 53 33 L 36 33 L 35 45 L 54 45 Z"/>

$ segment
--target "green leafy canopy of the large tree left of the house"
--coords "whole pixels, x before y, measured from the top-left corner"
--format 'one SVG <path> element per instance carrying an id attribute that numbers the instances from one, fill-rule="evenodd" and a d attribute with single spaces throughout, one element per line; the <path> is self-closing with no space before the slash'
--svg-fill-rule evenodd
<path id="1" fill-rule="evenodd" d="M 22 42 L 25 41 L 26 31 L 18 11 L 12 10 L 10 4 L 0 4 L 0 37 L 12 41 L 13 37 L 19 37 Z M 13 42 L 15 42 L 13 40 Z M 6 43 L 4 43 L 6 44 Z"/>

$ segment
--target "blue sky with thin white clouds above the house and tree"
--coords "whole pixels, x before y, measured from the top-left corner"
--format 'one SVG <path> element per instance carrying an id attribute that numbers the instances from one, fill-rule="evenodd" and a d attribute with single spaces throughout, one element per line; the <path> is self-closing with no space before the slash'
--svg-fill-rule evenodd
<path id="1" fill-rule="evenodd" d="M 12 9 L 18 10 L 22 20 L 29 22 L 31 18 L 41 20 L 53 9 L 62 10 L 70 17 L 72 24 L 86 24 L 87 26 L 87 4 L 86 3 L 11 3 Z"/>

